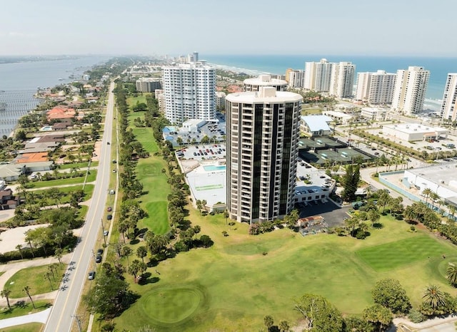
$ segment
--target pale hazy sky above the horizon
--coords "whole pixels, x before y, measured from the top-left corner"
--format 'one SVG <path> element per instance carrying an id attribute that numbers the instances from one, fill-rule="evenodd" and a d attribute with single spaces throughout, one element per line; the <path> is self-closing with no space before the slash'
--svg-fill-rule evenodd
<path id="1" fill-rule="evenodd" d="M 15 0 L 0 12 L 0 56 L 457 56 L 455 0 Z"/>

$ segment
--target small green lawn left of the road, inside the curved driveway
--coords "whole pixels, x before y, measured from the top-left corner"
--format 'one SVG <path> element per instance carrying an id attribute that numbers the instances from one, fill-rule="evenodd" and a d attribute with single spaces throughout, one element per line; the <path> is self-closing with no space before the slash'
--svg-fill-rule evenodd
<path id="1" fill-rule="evenodd" d="M 66 264 L 59 266 L 57 273 L 54 271 L 54 278 L 51 276 L 52 289 L 51 284 L 49 284 L 49 280 L 44 276 L 46 271 L 48 271 L 48 266 L 49 265 L 34 266 L 17 271 L 5 283 L 4 288 L 11 290 L 11 295 L 9 297 L 11 299 L 17 299 L 27 296 L 23 290 L 25 286 L 30 287 L 31 295 L 55 291 L 59 287 L 62 275 L 66 269 Z M 34 277 L 31 278 L 30 276 Z"/>

